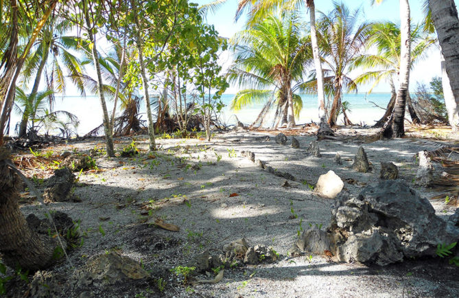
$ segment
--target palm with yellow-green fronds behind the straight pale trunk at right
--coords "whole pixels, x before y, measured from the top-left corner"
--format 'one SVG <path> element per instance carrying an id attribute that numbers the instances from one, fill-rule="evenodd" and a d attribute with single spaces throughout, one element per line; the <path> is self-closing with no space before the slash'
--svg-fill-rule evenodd
<path id="1" fill-rule="evenodd" d="M 357 84 L 373 83 L 368 93 L 371 93 L 373 88 L 381 81 L 385 80 L 390 84 L 391 96 L 386 108 L 386 113 L 377 121 L 375 127 L 382 127 L 386 123 L 395 106 L 397 91 L 394 81 L 397 80 L 400 68 L 400 38 L 401 32 L 399 25 L 392 22 L 374 23 L 371 27 L 370 38 L 368 39 L 366 47 L 367 49 L 375 47 L 377 49 L 377 54 L 362 54 L 355 59 L 351 66 L 351 69 L 360 67 L 370 69 L 355 78 Z M 411 68 L 414 67 L 417 61 L 425 57 L 425 51 L 434 45 L 435 41 L 435 38 L 422 32 L 421 25 L 416 25 L 416 27 L 411 30 Z M 413 122 L 416 122 L 418 118 L 412 108 L 409 95 L 407 105 Z"/>

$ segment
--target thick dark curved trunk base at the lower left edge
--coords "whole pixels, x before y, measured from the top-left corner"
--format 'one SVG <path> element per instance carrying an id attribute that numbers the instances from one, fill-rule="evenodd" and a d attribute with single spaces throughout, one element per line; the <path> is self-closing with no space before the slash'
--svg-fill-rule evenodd
<path id="1" fill-rule="evenodd" d="M 8 154 L 0 148 L 0 253 L 2 261 L 16 268 L 36 271 L 55 262 L 56 241 L 44 238 L 27 225 L 18 201 L 17 187 L 20 178 L 13 172 L 6 160 Z"/>

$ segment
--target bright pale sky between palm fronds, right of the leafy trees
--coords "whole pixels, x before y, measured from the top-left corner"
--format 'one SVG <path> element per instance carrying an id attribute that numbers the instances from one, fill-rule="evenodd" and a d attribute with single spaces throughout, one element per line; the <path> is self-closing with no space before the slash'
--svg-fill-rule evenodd
<path id="1" fill-rule="evenodd" d="M 193 0 L 190 2 L 198 3 L 198 5 L 210 3 L 211 0 Z M 207 23 L 214 25 L 215 30 L 220 36 L 231 38 L 236 32 L 244 30 L 246 16 L 242 16 L 235 22 L 235 12 L 237 10 L 238 0 L 228 0 L 215 13 L 207 14 Z M 343 2 L 351 9 L 360 8 L 362 10 L 362 21 L 393 21 L 399 23 L 399 0 L 384 0 L 381 4 L 371 5 L 370 0 L 343 0 Z M 423 0 L 412 0 L 410 2 L 410 11 L 412 24 L 423 22 Z M 455 0 L 456 5 L 459 0 Z M 320 12 L 327 13 L 333 8 L 331 0 L 316 0 L 316 18 L 320 16 Z M 309 13 L 304 12 L 305 21 L 309 21 Z M 226 52 L 222 54 L 222 62 L 224 68 L 231 64 L 232 54 Z M 353 73 L 351 73 L 352 76 Z M 416 63 L 414 69 L 410 73 L 410 90 L 416 89 L 416 82 L 428 84 L 432 77 L 440 76 L 440 51 L 436 47 L 432 47 L 427 53 L 425 60 Z M 370 89 L 369 85 L 362 86 L 359 93 L 365 93 Z M 226 93 L 236 93 L 237 87 L 231 86 L 226 90 Z M 388 93 L 390 92 L 387 83 L 381 83 L 373 89 L 373 92 Z"/>

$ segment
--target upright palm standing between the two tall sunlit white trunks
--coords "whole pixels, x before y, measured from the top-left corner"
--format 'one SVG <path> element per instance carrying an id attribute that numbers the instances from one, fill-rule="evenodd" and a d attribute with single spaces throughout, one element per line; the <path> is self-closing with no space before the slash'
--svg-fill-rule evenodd
<path id="1" fill-rule="evenodd" d="M 349 67 L 360 55 L 370 37 L 370 23 L 359 23 L 360 10 L 351 12 L 344 3 L 334 3 L 329 14 L 322 14 L 318 21 L 318 41 L 325 65 L 325 91 L 333 96 L 328 124 L 336 125 L 338 113 L 342 111 L 342 93 L 357 91 L 356 82 L 349 77 Z M 307 84 L 314 89 L 316 80 Z M 344 112 L 344 111 L 343 111 Z M 345 124 L 351 124 L 344 115 Z"/>

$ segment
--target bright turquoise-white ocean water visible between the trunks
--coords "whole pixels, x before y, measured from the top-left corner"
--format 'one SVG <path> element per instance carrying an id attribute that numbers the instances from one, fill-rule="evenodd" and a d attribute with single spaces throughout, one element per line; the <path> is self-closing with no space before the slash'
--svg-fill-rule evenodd
<path id="1" fill-rule="evenodd" d="M 263 104 L 254 104 L 252 106 L 246 106 L 241 111 L 231 111 L 231 101 L 234 98 L 234 94 L 222 95 L 222 102 L 226 106 L 222 109 L 220 114 L 220 121 L 224 124 L 230 125 L 235 124 L 237 119 L 240 122 L 250 125 L 257 119 L 257 116 L 263 108 Z M 318 122 L 318 102 L 317 97 L 314 95 L 301 95 L 303 98 L 303 109 L 301 110 L 300 117 L 296 119 L 296 124 L 306 124 L 310 122 Z M 375 106 L 386 107 L 390 100 L 390 93 L 371 93 L 360 94 L 351 93 L 344 94 L 343 101 L 349 102 L 349 111 L 346 112 L 349 119 L 354 124 L 367 124 L 373 125 L 375 121 L 384 115 L 384 110 Z M 373 104 L 374 102 L 375 104 Z M 107 101 L 107 108 L 109 113 L 113 109 L 113 102 Z M 56 96 L 56 105 L 54 111 L 69 111 L 80 119 L 80 125 L 78 126 L 78 135 L 84 135 L 91 131 L 93 128 L 102 124 L 102 107 L 99 103 L 97 96 L 87 96 L 82 98 L 80 96 Z M 141 104 L 141 112 L 145 111 L 145 106 Z M 272 124 L 274 112 L 268 114 L 268 121 L 266 126 Z M 120 112 L 118 111 L 118 114 Z M 234 117 L 236 116 L 236 117 Z M 142 115 L 142 119 L 146 119 L 145 113 Z M 20 115 L 13 112 L 10 135 L 13 135 L 14 127 L 16 123 L 20 121 Z M 342 116 L 338 117 L 338 124 L 342 124 Z"/>

